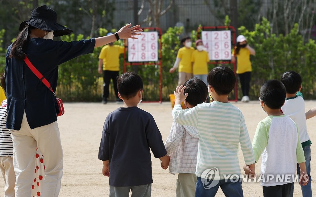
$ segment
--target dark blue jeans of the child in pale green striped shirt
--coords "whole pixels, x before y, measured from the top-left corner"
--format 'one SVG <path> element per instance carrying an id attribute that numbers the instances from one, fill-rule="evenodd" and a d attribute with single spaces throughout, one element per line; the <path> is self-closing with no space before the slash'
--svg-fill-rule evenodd
<path id="1" fill-rule="evenodd" d="M 205 180 L 205 179 L 204 179 Z M 225 180 L 211 180 L 208 185 L 216 181 L 216 185 L 210 188 L 205 188 L 205 183 L 201 177 L 197 177 L 197 187 L 195 189 L 195 197 L 214 197 L 219 187 L 221 187 L 226 197 L 243 197 L 243 191 L 241 188 L 241 180 L 235 180 L 232 182 L 230 179 Z"/>

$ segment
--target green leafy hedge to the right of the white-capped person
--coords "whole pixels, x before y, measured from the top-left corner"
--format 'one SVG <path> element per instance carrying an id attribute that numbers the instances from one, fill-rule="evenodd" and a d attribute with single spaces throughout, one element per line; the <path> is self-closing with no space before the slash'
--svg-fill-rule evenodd
<path id="1" fill-rule="evenodd" d="M 316 98 L 315 89 L 315 62 L 313 55 L 316 45 L 314 40 L 303 43 L 303 38 L 298 34 L 298 25 L 288 35 L 270 33 L 270 23 L 263 18 L 256 24 L 254 31 L 245 27 L 239 28 L 245 35 L 249 45 L 256 50 L 256 56 L 251 57 L 252 82 L 250 95 L 255 99 L 260 93 L 264 81 L 281 78 L 287 70 L 294 70 L 302 76 L 302 93 L 304 98 Z"/>

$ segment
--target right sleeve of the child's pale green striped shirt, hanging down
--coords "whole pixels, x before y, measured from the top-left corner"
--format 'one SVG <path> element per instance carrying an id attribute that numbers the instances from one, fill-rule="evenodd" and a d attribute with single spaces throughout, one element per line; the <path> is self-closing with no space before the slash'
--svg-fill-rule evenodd
<path id="1" fill-rule="evenodd" d="M 239 142 L 242 154 L 244 155 L 245 164 L 250 165 L 255 163 L 249 133 L 246 127 L 245 118 L 240 114 L 240 135 Z"/>

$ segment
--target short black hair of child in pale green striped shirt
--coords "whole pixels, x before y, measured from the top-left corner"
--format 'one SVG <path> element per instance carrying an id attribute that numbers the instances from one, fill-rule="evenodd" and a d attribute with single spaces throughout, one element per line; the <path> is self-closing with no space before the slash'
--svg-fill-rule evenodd
<path id="1" fill-rule="evenodd" d="M 215 89 L 218 95 L 228 95 L 235 87 L 234 71 L 226 66 L 218 66 L 207 75 L 207 83 Z"/>

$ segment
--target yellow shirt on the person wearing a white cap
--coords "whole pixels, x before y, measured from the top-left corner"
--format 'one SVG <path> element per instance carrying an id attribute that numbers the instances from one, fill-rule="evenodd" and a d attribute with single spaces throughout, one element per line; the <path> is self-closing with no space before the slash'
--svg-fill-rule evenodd
<path id="1" fill-rule="evenodd" d="M 237 74 L 243 74 L 245 72 L 251 72 L 251 62 L 250 62 L 250 51 L 247 48 L 240 48 L 239 53 L 235 55 L 235 50 L 233 51 L 233 56 L 237 57 Z"/>

